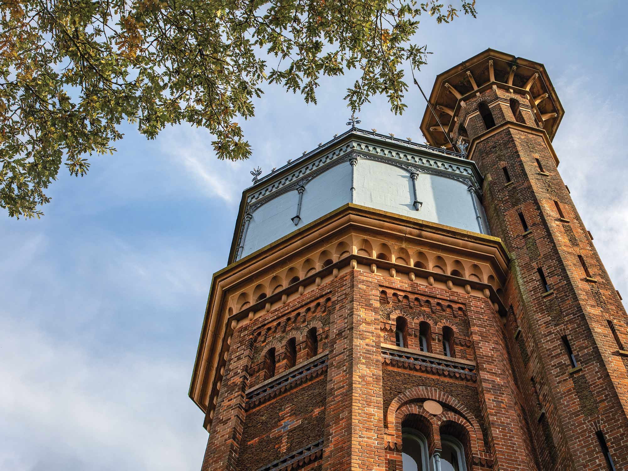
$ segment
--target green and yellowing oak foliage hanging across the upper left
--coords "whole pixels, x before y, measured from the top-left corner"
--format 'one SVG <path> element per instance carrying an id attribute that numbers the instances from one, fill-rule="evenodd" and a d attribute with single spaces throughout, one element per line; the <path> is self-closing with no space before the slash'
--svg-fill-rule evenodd
<path id="1" fill-rule="evenodd" d="M 475 16 L 475 1 L 461 3 Z M 0 206 L 39 217 L 61 164 L 85 175 L 85 156 L 112 153 L 124 119 L 148 138 L 166 124 L 204 126 L 219 159 L 247 158 L 236 119 L 253 116 L 266 84 L 316 103 L 321 75 L 356 68 L 351 109 L 386 94 L 401 113 L 401 65 L 420 68 L 428 53 L 409 43 L 418 17 L 448 23 L 459 11 L 414 0 L 0 0 Z"/>

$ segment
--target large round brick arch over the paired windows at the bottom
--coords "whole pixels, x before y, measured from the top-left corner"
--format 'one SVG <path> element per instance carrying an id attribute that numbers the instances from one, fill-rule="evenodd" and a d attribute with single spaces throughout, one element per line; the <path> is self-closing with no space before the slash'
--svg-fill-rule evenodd
<path id="1" fill-rule="evenodd" d="M 467 406 L 458 401 L 458 399 L 453 398 L 453 396 L 450 396 L 449 394 L 441 391 L 440 389 L 436 389 L 435 387 L 412 387 L 410 389 L 406 389 L 406 391 L 399 394 L 396 398 L 393 399 L 390 406 L 388 406 L 388 410 L 386 412 L 387 436 L 401 436 L 401 421 L 403 420 L 403 416 L 401 416 L 401 414 L 398 414 L 398 411 L 406 406 L 406 404 L 420 401 L 421 399 L 431 399 L 433 401 L 446 404 L 450 408 L 455 409 L 455 411 L 457 411 L 460 415 L 461 420 L 455 419 L 455 416 L 457 414 L 451 413 L 451 411 L 443 411 L 442 414 L 436 416 L 436 418 L 438 419 L 438 423 L 440 424 L 441 421 L 450 420 L 458 422 L 461 425 L 465 426 L 465 429 L 469 433 L 472 453 L 474 455 L 477 455 L 479 452 L 486 452 L 484 448 L 484 441 L 478 440 L 478 436 L 482 436 L 482 429 L 480 428 L 480 423 L 477 421 L 475 416 L 471 413 Z M 464 422 L 467 422 L 467 425 L 465 425 Z"/>

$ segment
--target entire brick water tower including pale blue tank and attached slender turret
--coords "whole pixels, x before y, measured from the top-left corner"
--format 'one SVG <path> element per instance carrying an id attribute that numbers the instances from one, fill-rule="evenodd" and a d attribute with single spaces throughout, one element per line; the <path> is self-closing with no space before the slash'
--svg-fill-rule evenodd
<path id="1" fill-rule="evenodd" d="M 628 316 L 556 165 L 543 65 L 436 78 L 244 190 L 190 398 L 203 471 L 628 470 Z M 443 148 L 445 146 L 445 148 Z"/>

